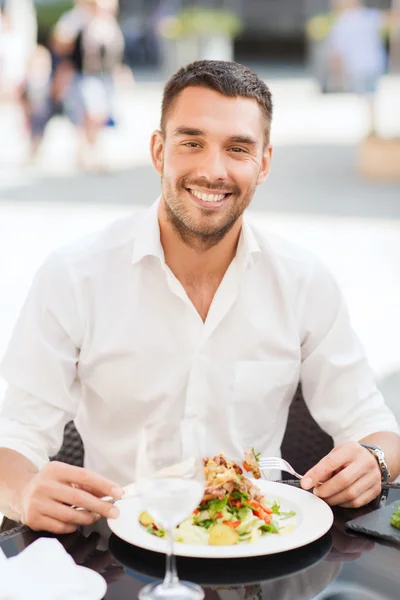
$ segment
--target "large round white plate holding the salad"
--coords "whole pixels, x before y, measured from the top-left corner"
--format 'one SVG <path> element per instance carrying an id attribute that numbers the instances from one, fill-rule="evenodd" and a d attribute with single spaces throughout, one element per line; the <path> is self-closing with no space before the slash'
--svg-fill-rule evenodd
<path id="1" fill-rule="evenodd" d="M 265 535 L 254 544 L 235 546 L 201 546 L 194 544 L 175 544 L 177 556 L 193 558 L 244 558 L 264 556 L 300 548 L 322 537 L 333 523 L 330 507 L 309 492 L 300 488 L 273 481 L 257 481 L 257 486 L 267 501 L 277 501 L 282 511 L 296 512 L 295 528 L 282 535 Z M 139 523 L 143 509 L 140 498 L 130 498 L 118 502 L 120 515 L 109 519 L 110 529 L 122 540 L 154 552 L 166 552 L 166 542 L 147 531 Z"/>

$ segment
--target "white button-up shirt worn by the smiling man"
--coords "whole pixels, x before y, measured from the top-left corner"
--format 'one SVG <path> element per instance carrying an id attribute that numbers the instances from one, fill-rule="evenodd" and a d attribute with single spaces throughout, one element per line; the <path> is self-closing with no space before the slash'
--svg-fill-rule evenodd
<path id="1" fill-rule="evenodd" d="M 41 468 L 74 419 L 85 466 L 125 484 L 138 430 L 156 415 L 195 422 L 205 455 L 277 455 L 299 380 L 335 443 L 398 431 L 318 260 L 244 220 L 203 322 L 165 263 L 157 211 L 38 271 L 1 365 L 0 446 Z"/>

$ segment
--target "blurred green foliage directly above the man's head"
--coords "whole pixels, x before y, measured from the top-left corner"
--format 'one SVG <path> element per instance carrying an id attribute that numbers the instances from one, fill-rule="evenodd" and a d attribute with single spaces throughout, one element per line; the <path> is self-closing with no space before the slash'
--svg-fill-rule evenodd
<path id="1" fill-rule="evenodd" d="M 236 37 L 243 24 L 236 13 L 225 9 L 185 8 L 161 21 L 160 34 L 167 39 L 224 34 Z"/>

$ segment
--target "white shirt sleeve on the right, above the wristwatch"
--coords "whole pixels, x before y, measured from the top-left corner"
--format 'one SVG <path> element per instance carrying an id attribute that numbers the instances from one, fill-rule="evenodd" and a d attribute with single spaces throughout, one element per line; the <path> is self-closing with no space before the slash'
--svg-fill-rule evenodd
<path id="1" fill-rule="evenodd" d="M 301 382 L 311 415 L 335 445 L 378 431 L 399 433 L 335 280 L 316 263 L 304 289 Z"/>

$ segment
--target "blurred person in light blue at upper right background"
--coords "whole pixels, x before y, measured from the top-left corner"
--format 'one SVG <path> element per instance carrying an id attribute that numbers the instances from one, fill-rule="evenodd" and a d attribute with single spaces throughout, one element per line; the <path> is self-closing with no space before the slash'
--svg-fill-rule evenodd
<path id="1" fill-rule="evenodd" d="M 368 100 L 370 135 L 376 132 L 375 94 L 387 67 L 383 30 L 389 14 L 364 6 L 361 0 L 332 0 L 337 11 L 327 39 L 334 87 Z"/>

